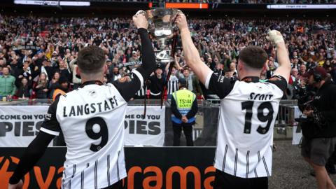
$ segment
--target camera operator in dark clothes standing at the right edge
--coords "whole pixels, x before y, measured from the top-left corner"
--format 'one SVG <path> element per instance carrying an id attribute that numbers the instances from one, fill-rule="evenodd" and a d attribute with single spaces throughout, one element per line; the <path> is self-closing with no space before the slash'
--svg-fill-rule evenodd
<path id="1" fill-rule="evenodd" d="M 325 163 L 335 151 L 336 144 L 336 85 L 325 69 L 316 67 L 308 72 L 308 83 L 317 88 L 311 102 L 304 103 L 301 120 L 304 159 L 313 167 L 318 188 L 335 188 L 325 169 Z"/>

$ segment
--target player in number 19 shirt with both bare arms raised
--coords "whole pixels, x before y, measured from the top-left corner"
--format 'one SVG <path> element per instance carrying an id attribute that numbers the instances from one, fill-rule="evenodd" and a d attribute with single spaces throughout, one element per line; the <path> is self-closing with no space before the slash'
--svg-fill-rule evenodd
<path id="1" fill-rule="evenodd" d="M 269 40 L 276 44 L 280 64 L 274 76 L 260 82 L 267 53 L 258 46 L 248 46 L 239 52 L 239 80 L 235 81 L 214 73 L 201 61 L 183 13 L 177 16 L 176 24 L 188 66 L 207 89 L 221 98 L 214 188 L 268 188 L 273 127 L 290 75 L 288 52 L 280 32 L 268 33 Z"/>

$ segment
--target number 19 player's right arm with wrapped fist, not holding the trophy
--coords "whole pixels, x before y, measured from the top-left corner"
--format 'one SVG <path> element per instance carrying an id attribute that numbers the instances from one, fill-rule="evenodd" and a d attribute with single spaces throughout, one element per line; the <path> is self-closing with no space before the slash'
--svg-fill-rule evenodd
<path id="1" fill-rule="evenodd" d="M 285 41 L 283 41 L 281 33 L 276 30 L 269 31 L 267 39 L 276 44 L 276 57 L 279 67 L 274 71 L 274 75 L 283 76 L 288 83 L 291 66 Z"/>

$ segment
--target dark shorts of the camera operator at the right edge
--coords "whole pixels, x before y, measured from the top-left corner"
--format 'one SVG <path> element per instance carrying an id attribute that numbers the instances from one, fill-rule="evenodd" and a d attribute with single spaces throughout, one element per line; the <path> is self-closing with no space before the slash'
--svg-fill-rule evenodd
<path id="1" fill-rule="evenodd" d="M 336 137 L 307 139 L 302 137 L 301 155 L 309 158 L 315 165 L 325 166 L 335 151 Z"/>

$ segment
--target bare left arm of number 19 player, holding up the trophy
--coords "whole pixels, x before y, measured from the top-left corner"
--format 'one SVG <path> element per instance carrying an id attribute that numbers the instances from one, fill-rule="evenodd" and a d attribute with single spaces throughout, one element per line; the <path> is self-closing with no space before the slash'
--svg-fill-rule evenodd
<path id="1" fill-rule="evenodd" d="M 186 59 L 188 66 L 190 66 L 190 68 L 196 74 L 197 78 L 199 78 L 205 85 L 207 76 L 211 72 L 211 69 L 209 69 L 207 64 L 202 62 L 200 54 L 198 53 L 198 50 L 195 47 L 193 40 L 191 39 L 186 15 L 179 13 L 176 18 L 176 25 L 179 27 L 181 32 L 184 58 Z"/>

